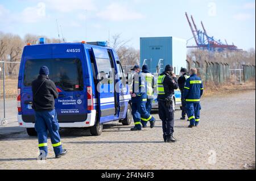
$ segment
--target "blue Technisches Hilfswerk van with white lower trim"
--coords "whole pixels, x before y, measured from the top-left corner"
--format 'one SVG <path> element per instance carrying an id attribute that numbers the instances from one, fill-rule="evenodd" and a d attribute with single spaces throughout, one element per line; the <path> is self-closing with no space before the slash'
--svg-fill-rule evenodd
<path id="1" fill-rule="evenodd" d="M 121 62 L 105 43 L 27 45 L 18 77 L 18 123 L 35 136 L 31 82 L 41 66 L 49 68 L 59 98 L 55 100 L 60 128 L 90 128 L 102 133 L 102 124 L 131 124 L 130 92 Z"/>

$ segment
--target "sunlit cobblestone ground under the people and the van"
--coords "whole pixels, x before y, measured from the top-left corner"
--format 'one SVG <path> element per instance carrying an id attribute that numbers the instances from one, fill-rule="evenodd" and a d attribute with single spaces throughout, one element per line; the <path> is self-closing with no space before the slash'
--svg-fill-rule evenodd
<path id="1" fill-rule="evenodd" d="M 212 96 L 202 102 L 200 127 L 187 128 L 175 113 L 177 142 L 162 141 L 161 121 L 154 129 L 130 132 L 120 123 L 104 126 L 102 136 L 63 129 L 68 154 L 38 163 L 38 141 L 26 132 L 0 138 L 0 169 L 251 169 L 255 168 L 255 91 Z M 159 120 L 159 116 L 155 115 Z M 48 141 L 48 145 L 51 143 Z"/>

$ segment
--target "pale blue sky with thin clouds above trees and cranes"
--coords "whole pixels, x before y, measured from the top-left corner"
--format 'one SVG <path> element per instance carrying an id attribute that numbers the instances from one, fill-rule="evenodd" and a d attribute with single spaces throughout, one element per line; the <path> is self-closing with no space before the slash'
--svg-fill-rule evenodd
<path id="1" fill-rule="evenodd" d="M 109 32 L 122 33 L 139 48 L 139 37 L 190 39 L 186 11 L 197 28 L 203 21 L 210 36 L 255 48 L 255 1 L 250 0 L 0 0 L 0 31 L 57 38 L 57 19 L 60 36 L 62 29 L 69 42 L 105 41 Z"/>

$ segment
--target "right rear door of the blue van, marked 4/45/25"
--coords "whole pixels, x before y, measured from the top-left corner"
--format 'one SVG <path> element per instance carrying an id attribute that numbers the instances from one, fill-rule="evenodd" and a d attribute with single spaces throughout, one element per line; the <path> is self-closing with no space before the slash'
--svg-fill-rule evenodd
<path id="1" fill-rule="evenodd" d="M 87 90 L 84 47 L 82 44 L 53 45 L 54 76 L 50 78 L 59 88 L 55 102 L 60 123 L 82 122 L 87 119 Z"/>

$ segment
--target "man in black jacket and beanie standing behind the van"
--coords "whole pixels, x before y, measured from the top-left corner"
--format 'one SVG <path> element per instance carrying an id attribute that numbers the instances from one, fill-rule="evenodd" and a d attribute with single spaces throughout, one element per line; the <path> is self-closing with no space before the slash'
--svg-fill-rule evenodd
<path id="1" fill-rule="evenodd" d="M 55 158 L 67 154 L 67 150 L 62 148 L 59 134 L 59 123 L 57 121 L 57 113 L 55 110 L 55 99 L 58 92 L 54 82 L 49 80 L 49 69 L 42 66 L 39 76 L 32 82 L 33 108 L 35 110 L 35 130 L 38 133 L 38 142 L 40 155 L 38 159 L 46 159 L 47 134 L 51 136 Z"/>

